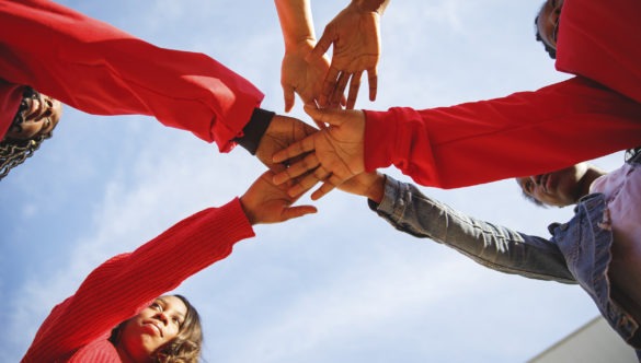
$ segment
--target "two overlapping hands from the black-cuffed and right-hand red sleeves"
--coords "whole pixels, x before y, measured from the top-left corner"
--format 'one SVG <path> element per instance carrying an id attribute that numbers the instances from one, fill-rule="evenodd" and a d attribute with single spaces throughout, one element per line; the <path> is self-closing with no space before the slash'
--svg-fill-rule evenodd
<path id="1" fill-rule="evenodd" d="M 256 156 L 276 173 L 273 183 L 288 186 L 291 197 L 322 182 L 311 195 L 318 200 L 365 172 L 365 114 L 311 105 L 306 105 L 305 110 L 322 126 L 320 130 L 291 117 L 275 116 Z"/>

